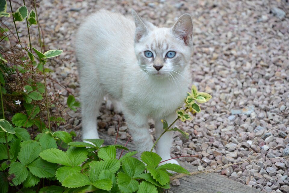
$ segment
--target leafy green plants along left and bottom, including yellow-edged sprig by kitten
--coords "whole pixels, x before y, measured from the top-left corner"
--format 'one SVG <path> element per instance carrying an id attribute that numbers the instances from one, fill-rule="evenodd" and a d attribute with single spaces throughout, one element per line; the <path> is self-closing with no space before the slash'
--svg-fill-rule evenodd
<path id="1" fill-rule="evenodd" d="M 30 2 L 34 7 L 30 11 L 23 0 L 23 5 L 14 12 L 9 1 L 10 14 L 6 0 L 0 0 L 0 17 L 13 18 L 11 24 L 15 27 L 14 33 L 3 22 L 0 26 L 0 43 L 10 43 L 9 49 L 4 50 L 3 47 L 0 50 L 0 192 L 156 193 L 169 188 L 172 174 L 168 170 L 189 174 L 179 165 L 162 165 L 166 160 L 161 160 L 152 151 L 143 152 L 141 160 L 138 160 L 133 157 L 137 152 L 129 151 L 125 146 L 102 147 L 104 140 L 101 139 L 86 139 L 89 143 L 77 142 L 73 141 L 74 132 L 53 129 L 65 123 L 66 119 L 62 113 L 52 114 L 51 109 L 57 109 L 57 112 L 65 109 L 62 93 L 47 91 L 46 79 L 53 71 L 46 65 L 62 50 L 44 52 L 36 2 Z M 27 25 L 28 46 L 23 46 L 17 30 L 17 22 L 23 21 Z M 29 29 L 33 25 L 38 28 L 40 51 L 36 49 L 37 45 L 31 46 Z M 17 45 L 12 45 L 11 36 L 18 41 Z M 163 134 L 179 131 L 188 137 L 179 128 L 171 128 L 172 125 L 178 119 L 191 119 L 187 111 L 200 112 L 196 102 L 204 103 L 210 98 L 207 93 L 198 93 L 193 86 L 185 99 L 185 108 L 176 111 L 177 119 L 170 125 L 162 121 Z M 70 95 L 67 106 L 76 111 L 80 103 Z M 118 157 L 117 149 L 128 152 Z"/>

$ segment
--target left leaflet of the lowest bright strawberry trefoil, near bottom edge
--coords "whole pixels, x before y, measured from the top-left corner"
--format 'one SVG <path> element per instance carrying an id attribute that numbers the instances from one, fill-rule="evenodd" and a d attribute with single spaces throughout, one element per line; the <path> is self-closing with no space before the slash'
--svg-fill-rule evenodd
<path id="1" fill-rule="evenodd" d="M 82 173 L 73 173 L 67 176 L 62 182 L 61 185 L 67 188 L 78 188 L 85 185 L 90 185 L 88 176 Z"/>

